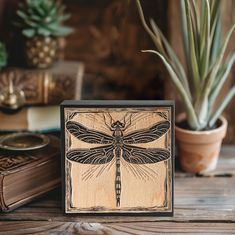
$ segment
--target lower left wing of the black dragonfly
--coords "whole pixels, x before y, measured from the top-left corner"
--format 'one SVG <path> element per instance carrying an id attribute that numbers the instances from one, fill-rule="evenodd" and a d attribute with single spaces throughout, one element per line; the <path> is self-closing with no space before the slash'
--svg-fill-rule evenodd
<path id="1" fill-rule="evenodd" d="M 73 149 L 67 153 L 67 158 L 82 164 L 106 164 L 114 157 L 113 146 L 101 146 L 90 149 Z"/>

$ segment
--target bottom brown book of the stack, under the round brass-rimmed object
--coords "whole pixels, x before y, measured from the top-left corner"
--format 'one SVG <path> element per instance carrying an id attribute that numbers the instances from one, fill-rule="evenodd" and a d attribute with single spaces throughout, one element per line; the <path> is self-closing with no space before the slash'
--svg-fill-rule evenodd
<path id="1" fill-rule="evenodd" d="M 1 152 L 0 211 L 8 212 L 56 188 L 60 183 L 59 139 L 32 152 Z"/>

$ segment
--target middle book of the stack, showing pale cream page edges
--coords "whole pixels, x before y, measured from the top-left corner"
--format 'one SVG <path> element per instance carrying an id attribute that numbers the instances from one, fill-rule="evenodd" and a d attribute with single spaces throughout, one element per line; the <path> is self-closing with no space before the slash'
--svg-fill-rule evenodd
<path id="1" fill-rule="evenodd" d="M 0 113 L 0 132 L 60 130 L 59 106 L 25 107 L 15 114 Z"/>

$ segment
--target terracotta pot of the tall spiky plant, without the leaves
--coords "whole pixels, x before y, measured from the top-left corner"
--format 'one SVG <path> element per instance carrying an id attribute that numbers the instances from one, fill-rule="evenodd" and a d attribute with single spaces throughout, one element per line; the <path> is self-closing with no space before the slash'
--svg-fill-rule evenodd
<path id="1" fill-rule="evenodd" d="M 179 115 L 177 121 L 183 121 Z M 208 131 L 190 131 L 175 127 L 180 165 L 186 172 L 203 173 L 216 168 L 227 120 L 220 117 L 219 126 Z"/>

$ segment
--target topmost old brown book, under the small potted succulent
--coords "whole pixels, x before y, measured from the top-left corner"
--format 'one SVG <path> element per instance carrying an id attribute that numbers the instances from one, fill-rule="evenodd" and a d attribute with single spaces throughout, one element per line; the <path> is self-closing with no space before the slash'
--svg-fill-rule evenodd
<path id="1" fill-rule="evenodd" d="M 61 61 L 52 68 L 9 68 L 0 75 L 0 90 L 13 80 L 15 88 L 24 91 L 26 104 L 60 104 L 66 99 L 80 99 L 84 65 L 80 62 Z"/>

